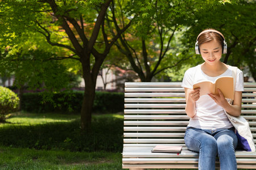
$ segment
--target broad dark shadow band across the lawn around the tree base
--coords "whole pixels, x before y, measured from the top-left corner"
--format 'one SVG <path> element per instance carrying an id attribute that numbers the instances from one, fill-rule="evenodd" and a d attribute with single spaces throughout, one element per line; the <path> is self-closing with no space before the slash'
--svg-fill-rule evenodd
<path id="1" fill-rule="evenodd" d="M 35 117 L 38 117 L 38 114 Z M 81 131 L 80 120 L 76 119 L 69 122 L 3 126 L 0 128 L 0 134 L 2 146 L 44 150 L 122 152 L 123 119 L 94 117 L 92 130 L 87 133 Z"/>

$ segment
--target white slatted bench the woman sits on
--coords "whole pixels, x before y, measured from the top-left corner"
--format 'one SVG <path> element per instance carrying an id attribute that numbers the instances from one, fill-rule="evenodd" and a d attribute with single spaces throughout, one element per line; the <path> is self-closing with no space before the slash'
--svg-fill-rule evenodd
<path id="1" fill-rule="evenodd" d="M 256 143 L 256 83 L 244 85 L 242 116 Z M 187 149 L 183 138 L 189 117 L 181 83 L 125 83 L 124 113 L 122 168 L 197 168 L 198 154 Z M 151 153 L 156 145 L 183 149 L 179 155 Z M 256 169 L 256 152 L 236 151 L 236 157 L 238 168 Z"/>

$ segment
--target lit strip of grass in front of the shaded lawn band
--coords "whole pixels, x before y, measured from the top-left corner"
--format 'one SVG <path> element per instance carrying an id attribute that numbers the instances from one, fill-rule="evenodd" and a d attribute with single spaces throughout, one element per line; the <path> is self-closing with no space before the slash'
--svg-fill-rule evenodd
<path id="1" fill-rule="evenodd" d="M 0 169 L 122 169 L 122 155 L 0 146 Z"/>

